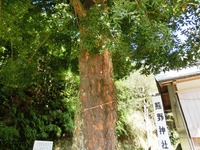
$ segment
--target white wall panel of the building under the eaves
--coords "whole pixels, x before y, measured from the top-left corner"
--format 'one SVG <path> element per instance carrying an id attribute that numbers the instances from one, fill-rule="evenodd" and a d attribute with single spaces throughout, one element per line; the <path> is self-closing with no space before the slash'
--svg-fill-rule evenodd
<path id="1" fill-rule="evenodd" d="M 191 138 L 200 137 L 200 80 L 177 83 L 177 94 Z"/>

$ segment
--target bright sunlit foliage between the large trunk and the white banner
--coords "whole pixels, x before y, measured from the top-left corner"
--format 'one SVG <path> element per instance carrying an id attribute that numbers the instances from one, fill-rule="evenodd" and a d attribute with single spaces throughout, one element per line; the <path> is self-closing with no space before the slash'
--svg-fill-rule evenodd
<path id="1" fill-rule="evenodd" d="M 157 145 L 153 142 L 156 139 L 151 94 L 157 92 L 153 76 L 140 75 L 137 71 L 128 78 L 117 81 L 116 87 L 119 100 L 118 140 L 124 145 L 132 145 L 129 149 L 147 149 L 149 130 L 149 146 L 153 148 Z"/>

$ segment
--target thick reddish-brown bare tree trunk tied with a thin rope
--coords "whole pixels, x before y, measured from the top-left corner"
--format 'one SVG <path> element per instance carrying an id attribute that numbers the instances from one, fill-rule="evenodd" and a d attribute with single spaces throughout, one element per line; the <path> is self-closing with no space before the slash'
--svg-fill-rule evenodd
<path id="1" fill-rule="evenodd" d="M 75 119 L 73 150 L 116 150 L 116 95 L 110 53 L 82 51 L 80 103 Z"/>

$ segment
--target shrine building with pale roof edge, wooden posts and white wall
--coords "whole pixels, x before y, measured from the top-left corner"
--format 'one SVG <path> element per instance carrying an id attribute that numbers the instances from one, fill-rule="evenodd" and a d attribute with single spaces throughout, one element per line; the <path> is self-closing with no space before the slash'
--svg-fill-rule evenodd
<path id="1" fill-rule="evenodd" d="M 200 150 L 200 67 L 155 76 L 164 113 L 172 112 L 183 150 Z"/>

